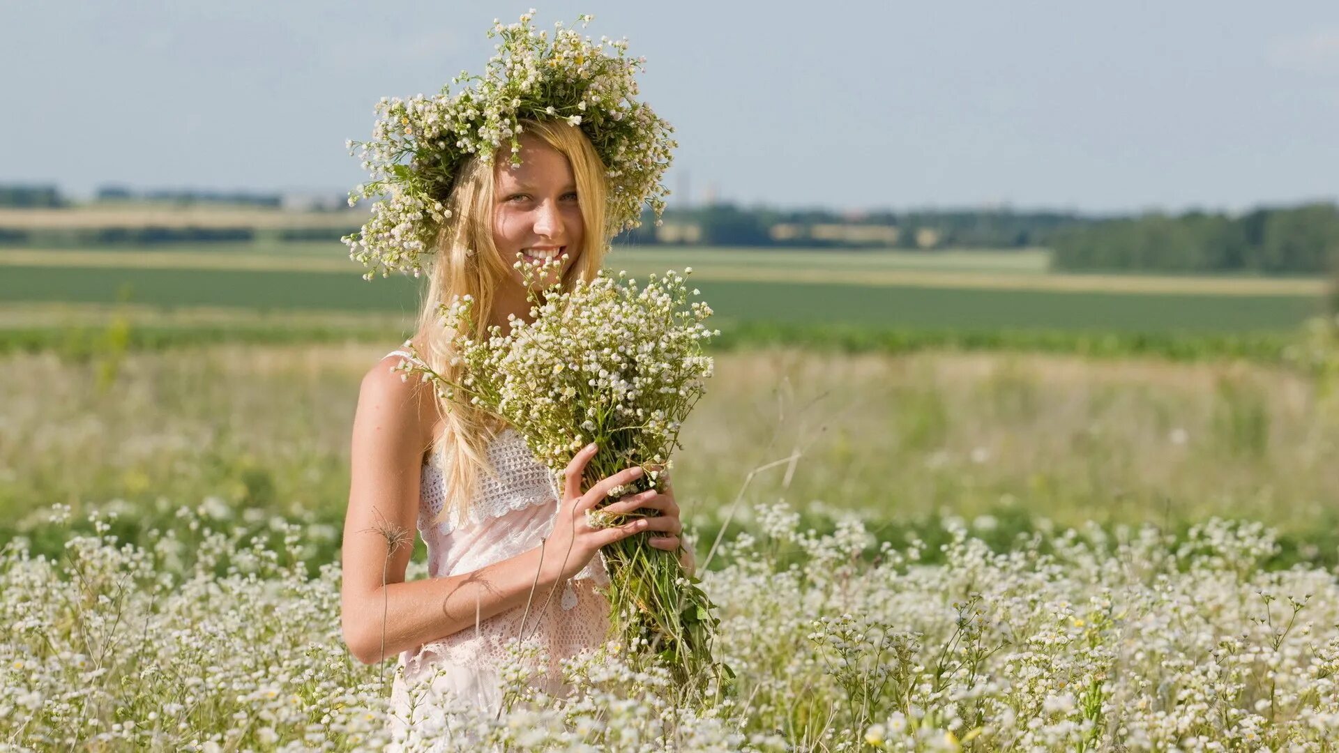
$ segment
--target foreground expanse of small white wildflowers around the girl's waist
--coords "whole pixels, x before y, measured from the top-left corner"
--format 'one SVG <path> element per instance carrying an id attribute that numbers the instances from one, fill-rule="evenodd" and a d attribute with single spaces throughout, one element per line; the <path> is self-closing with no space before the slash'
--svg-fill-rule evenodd
<path id="1" fill-rule="evenodd" d="M 68 508 L 43 515 L 67 521 Z M 95 512 L 59 557 L 0 553 L 0 748 L 376 749 L 394 662 L 339 635 L 337 564 L 312 577 L 304 527 L 182 508 L 143 532 Z M 604 647 L 554 699 L 513 677 L 507 713 L 451 711 L 410 749 L 1330 750 L 1339 730 L 1339 587 L 1260 565 L 1259 525 L 1209 521 L 1030 535 L 991 553 L 945 523 L 927 545 L 876 545 L 858 517 L 805 529 L 785 505 L 739 512 L 716 552 L 735 698 L 680 707 L 663 674 Z M 83 521 L 87 527 L 87 523 Z M 976 521 L 973 525 L 988 525 Z M 269 536 L 283 547 L 269 545 Z M 699 541 L 699 552 L 710 543 Z M 411 571 L 422 576 L 422 565 Z"/>

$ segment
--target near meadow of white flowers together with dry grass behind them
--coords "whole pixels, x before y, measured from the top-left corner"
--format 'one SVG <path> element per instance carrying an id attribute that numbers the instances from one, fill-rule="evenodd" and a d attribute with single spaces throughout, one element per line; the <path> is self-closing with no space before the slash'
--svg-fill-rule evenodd
<path id="1" fill-rule="evenodd" d="M 382 352 L 0 359 L 0 750 L 391 742 L 395 662 L 339 634 L 352 401 Z M 400 742 L 1330 750 L 1326 363 L 1330 389 L 1243 363 L 724 355 L 679 494 L 699 561 L 724 529 L 700 575 L 736 694 L 679 703 L 608 646 L 572 662 L 574 695 L 534 697 L 518 655 L 507 714 Z"/>

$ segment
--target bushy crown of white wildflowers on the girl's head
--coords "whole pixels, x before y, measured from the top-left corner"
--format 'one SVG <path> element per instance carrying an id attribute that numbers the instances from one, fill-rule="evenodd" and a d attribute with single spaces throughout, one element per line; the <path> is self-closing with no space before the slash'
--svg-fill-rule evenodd
<path id="1" fill-rule="evenodd" d="M 490 158 L 506 143 L 520 165 L 520 121 L 566 121 L 590 139 L 607 170 L 608 217 L 613 232 L 641 224 L 649 205 L 659 218 L 670 190 L 661 176 L 678 143 L 674 129 L 635 99 L 645 58 L 628 58 L 628 42 L 596 43 L 561 21 L 553 33 L 530 25 L 534 9 L 520 23 L 494 20 L 490 38 L 501 38 L 482 76 L 462 72 L 435 96 L 382 98 L 372 141 L 349 141 L 362 149 L 371 182 L 348 194 L 349 206 L 378 198 L 372 217 L 341 240 L 349 259 L 368 267 L 363 277 L 392 271 L 423 272 L 461 166 L 470 157 Z M 582 28 L 593 16 L 577 20 Z M 465 84 L 454 95 L 450 90 Z"/>

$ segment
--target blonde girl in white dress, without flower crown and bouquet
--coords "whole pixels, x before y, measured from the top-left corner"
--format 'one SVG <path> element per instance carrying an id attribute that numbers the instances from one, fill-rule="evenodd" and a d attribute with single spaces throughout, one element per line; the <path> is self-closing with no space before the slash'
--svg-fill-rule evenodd
<path id="1" fill-rule="evenodd" d="M 416 334 L 406 344 L 455 379 L 450 332 L 438 304 L 471 295 L 487 324 L 529 319 L 520 257 L 561 259 L 565 284 L 593 279 L 608 248 L 608 181 L 590 139 L 568 121 L 524 119 L 520 165 L 499 149 L 466 159 L 446 202 L 450 221 L 435 241 L 435 263 Z M 550 277 L 552 280 L 552 277 Z M 538 280 L 542 285 L 549 280 Z M 481 318 L 482 319 L 482 318 Z M 561 693 L 557 662 L 605 636 L 608 584 L 599 552 L 632 533 L 652 547 L 680 548 L 672 489 L 613 502 L 615 512 L 652 509 L 655 517 L 595 529 L 585 510 L 640 476 L 621 470 L 580 489 L 590 445 L 576 454 L 556 489 L 549 472 L 511 429 L 469 406 L 446 405 L 430 383 L 392 368 L 410 352 L 392 351 L 363 378 L 352 437 L 352 485 L 344 524 L 343 631 L 364 663 L 399 654 L 392 699 L 402 721 L 408 687 L 428 682 L 431 705 L 501 706 L 498 661 L 514 638 L 536 638 L 550 665 L 540 683 Z M 450 409 L 450 410 L 447 410 Z M 416 528 L 428 551 L 426 580 L 406 581 Z M 682 563 L 692 569 L 687 549 Z"/>

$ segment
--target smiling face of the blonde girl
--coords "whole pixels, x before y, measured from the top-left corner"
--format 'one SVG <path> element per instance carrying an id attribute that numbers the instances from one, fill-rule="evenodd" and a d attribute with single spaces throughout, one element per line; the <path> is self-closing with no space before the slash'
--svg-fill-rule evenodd
<path id="1" fill-rule="evenodd" d="M 566 255 L 561 272 L 566 272 L 581 249 L 585 225 L 577 200 L 572 165 L 558 150 L 544 141 L 522 135 L 521 165 L 513 167 L 510 154 L 499 153 L 493 169 L 493 245 L 509 269 L 517 253 L 526 264 Z M 536 287 L 553 284 L 560 271 Z M 511 269 L 517 285 L 524 284 L 520 269 Z"/>

